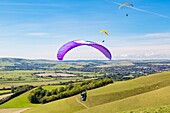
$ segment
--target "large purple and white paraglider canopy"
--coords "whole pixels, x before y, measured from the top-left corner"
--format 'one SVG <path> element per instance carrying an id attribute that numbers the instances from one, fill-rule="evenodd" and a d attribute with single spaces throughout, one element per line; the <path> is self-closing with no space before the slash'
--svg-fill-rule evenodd
<path id="1" fill-rule="evenodd" d="M 112 59 L 112 55 L 110 53 L 110 51 L 98 44 L 98 43 L 95 43 L 95 42 L 92 42 L 92 41 L 84 41 L 84 40 L 74 40 L 74 41 L 70 41 L 66 44 L 64 44 L 59 50 L 58 50 L 58 53 L 57 53 L 57 58 L 58 60 L 63 60 L 65 54 L 70 51 L 71 49 L 75 48 L 75 47 L 78 47 L 78 46 L 91 46 L 93 48 L 96 48 L 97 50 L 99 50 L 100 52 L 102 52 L 109 60 Z"/>

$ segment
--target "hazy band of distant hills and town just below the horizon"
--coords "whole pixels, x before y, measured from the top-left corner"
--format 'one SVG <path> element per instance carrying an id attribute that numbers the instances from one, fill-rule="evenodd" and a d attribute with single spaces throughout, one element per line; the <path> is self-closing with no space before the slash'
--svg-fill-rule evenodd
<path id="1" fill-rule="evenodd" d="M 13 70 L 41 70 L 33 75 L 37 77 L 56 78 L 58 75 L 67 77 L 98 78 L 109 77 L 115 80 L 128 80 L 140 76 L 147 76 L 170 70 L 169 60 L 120 60 L 120 61 L 51 61 L 51 60 L 26 60 L 26 59 L 1 59 L 2 71 Z M 16 63 L 17 62 L 17 63 Z M 6 64 L 6 65 L 4 65 Z M 44 70 L 44 72 L 43 72 Z M 46 73 L 45 71 L 54 71 Z M 87 73 L 88 72 L 88 73 Z M 63 75 L 62 75 L 63 73 Z M 103 76 L 102 76 L 103 75 Z"/>

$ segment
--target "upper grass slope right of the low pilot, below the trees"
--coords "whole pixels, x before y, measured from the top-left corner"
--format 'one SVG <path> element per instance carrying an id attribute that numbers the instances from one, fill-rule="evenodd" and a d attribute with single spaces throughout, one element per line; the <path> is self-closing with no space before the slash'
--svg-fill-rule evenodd
<path id="1" fill-rule="evenodd" d="M 89 107 L 120 100 L 170 85 L 170 72 L 153 74 L 117 82 L 88 92 L 85 104 Z"/>

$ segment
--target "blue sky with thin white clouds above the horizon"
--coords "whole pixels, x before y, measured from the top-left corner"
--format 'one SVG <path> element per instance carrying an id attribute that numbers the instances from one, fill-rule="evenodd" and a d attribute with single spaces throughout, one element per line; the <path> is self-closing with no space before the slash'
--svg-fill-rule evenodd
<path id="1" fill-rule="evenodd" d="M 119 10 L 113 3 L 126 1 L 1 0 L 0 57 L 56 59 L 62 44 L 84 39 L 106 46 L 113 59 L 170 58 L 170 1 L 129 0 L 152 13 Z M 101 29 L 109 36 L 100 34 Z M 80 47 L 65 59 L 105 58 L 95 49 Z"/>

